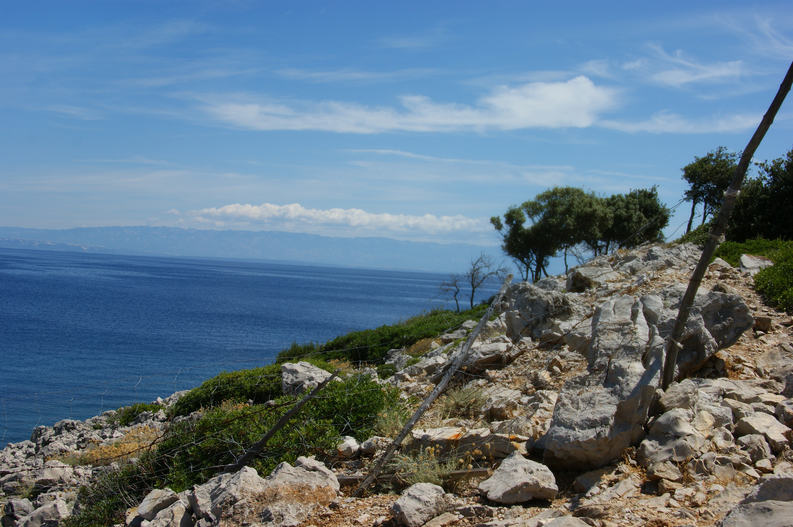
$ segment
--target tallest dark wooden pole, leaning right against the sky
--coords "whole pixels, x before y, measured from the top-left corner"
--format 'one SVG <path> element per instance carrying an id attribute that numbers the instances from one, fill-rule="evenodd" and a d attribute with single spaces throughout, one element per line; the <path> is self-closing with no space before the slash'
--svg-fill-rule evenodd
<path id="1" fill-rule="evenodd" d="M 664 389 L 668 388 L 669 384 L 672 384 L 672 381 L 675 380 L 677 352 L 680 349 L 680 336 L 685 330 L 688 315 L 691 313 L 691 305 L 694 304 L 696 291 L 699 289 L 699 284 L 702 283 L 702 279 L 705 276 L 707 265 L 711 263 L 711 257 L 718 245 L 718 239 L 721 238 L 724 233 L 724 227 L 726 227 L 727 220 L 730 219 L 730 214 L 733 212 L 735 200 L 737 200 L 738 193 L 740 193 L 741 190 L 741 183 L 743 182 L 746 170 L 749 168 L 749 162 L 752 161 L 754 151 L 757 150 L 760 141 L 763 140 L 765 132 L 768 132 L 768 128 L 774 122 L 776 112 L 780 109 L 782 101 L 785 100 L 787 92 L 791 90 L 791 84 L 793 84 L 793 63 L 791 63 L 791 67 L 787 69 L 787 74 L 780 85 L 780 90 L 776 92 L 776 97 L 774 97 L 774 100 L 771 102 L 771 106 L 768 107 L 768 112 L 763 116 L 763 120 L 760 121 L 760 126 L 757 127 L 757 131 L 754 132 L 752 139 L 749 139 L 749 144 L 746 145 L 743 155 L 741 155 L 741 162 L 739 162 L 738 166 L 735 168 L 735 174 L 733 175 L 733 181 L 730 182 L 730 188 L 724 193 L 722 210 L 718 213 L 718 218 L 716 218 L 713 227 L 711 227 L 711 234 L 708 236 L 707 242 L 705 243 L 702 257 L 699 258 L 699 263 L 697 263 L 696 269 L 694 269 L 694 274 L 691 275 L 691 280 L 688 281 L 688 289 L 686 289 L 686 294 L 680 302 L 680 311 L 677 312 L 675 327 L 672 329 L 672 335 L 669 338 L 666 349 L 663 379 Z"/>

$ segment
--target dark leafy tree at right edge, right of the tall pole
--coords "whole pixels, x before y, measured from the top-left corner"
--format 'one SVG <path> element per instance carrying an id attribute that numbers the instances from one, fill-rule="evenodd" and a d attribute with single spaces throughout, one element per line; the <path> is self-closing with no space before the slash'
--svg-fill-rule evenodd
<path id="1" fill-rule="evenodd" d="M 726 237 L 737 242 L 756 236 L 793 239 L 793 149 L 757 167 L 757 178 L 744 181 Z"/>

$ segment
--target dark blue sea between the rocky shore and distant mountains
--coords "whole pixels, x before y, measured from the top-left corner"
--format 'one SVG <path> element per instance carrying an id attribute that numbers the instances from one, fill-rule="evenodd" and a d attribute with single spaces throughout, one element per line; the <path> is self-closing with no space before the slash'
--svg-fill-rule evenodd
<path id="1" fill-rule="evenodd" d="M 294 341 L 407 319 L 437 305 L 442 278 L 0 249 L 0 441 L 269 364 Z"/>

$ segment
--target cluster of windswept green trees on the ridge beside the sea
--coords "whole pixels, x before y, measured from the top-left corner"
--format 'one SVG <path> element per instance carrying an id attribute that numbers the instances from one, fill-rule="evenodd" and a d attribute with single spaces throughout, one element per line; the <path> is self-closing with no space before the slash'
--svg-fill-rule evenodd
<path id="1" fill-rule="evenodd" d="M 490 219 L 502 238 L 501 249 L 512 258 L 523 278 L 547 276 L 550 258 L 560 251 L 567 267 L 568 253 L 607 254 L 662 239 L 669 209 L 658 200 L 656 187 L 600 197 L 576 187 L 554 187 L 534 200 L 508 208 L 502 221 Z"/>

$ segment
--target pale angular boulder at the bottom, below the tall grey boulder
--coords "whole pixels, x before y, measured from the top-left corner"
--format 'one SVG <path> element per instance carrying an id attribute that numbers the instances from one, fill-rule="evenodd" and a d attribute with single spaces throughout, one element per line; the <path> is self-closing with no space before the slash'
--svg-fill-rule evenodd
<path id="1" fill-rule="evenodd" d="M 494 502 L 520 503 L 530 499 L 554 499 L 559 489 L 554 473 L 543 464 L 511 453 L 499 468 L 479 483 L 479 493 Z"/>

